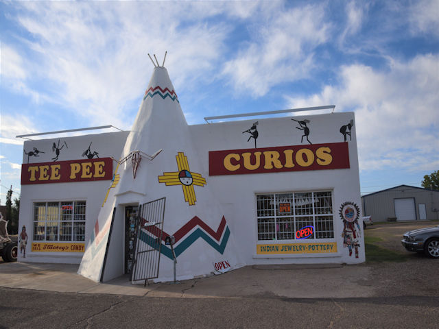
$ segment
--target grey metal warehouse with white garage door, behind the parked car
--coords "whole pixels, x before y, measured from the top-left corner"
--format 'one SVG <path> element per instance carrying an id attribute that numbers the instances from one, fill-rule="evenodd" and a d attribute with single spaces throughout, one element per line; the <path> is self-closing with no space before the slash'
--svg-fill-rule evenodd
<path id="1" fill-rule="evenodd" d="M 439 191 L 400 185 L 361 197 L 365 216 L 374 221 L 439 219 Z"/>

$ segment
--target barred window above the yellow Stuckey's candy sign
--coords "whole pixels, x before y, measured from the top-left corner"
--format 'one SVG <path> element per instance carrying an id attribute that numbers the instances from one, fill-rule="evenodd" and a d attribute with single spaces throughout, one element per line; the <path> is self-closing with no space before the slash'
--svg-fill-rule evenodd
<path id="1" fill-rule="evenodd" d="M 85 201 L 35 202 L 34 241 L 85 241 Z"/>

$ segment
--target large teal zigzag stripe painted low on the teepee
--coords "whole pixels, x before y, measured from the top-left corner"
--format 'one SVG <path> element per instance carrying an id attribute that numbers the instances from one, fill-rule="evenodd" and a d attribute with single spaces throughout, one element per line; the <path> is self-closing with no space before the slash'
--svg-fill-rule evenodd
<path id="1" fill-rule="evenodd" d="M 176 257 L 178 257 L 180 254 L 185 252 L 187 248 L 189 248 L 195 241 L 198 240 L 198 238 L 203 239 L 213 249 L 215 249 L 219 254 L 224 253 L 224 249 L 226 249 L 228 237 L 230 236 L 230 230 L 226 228 L 226 232 L 224 232 L 224 236 L 221 243 L 216 243 L 211 239 L 209 235 L 207 235 L 204 231 L 200 230 L 200 228 L 197 228 L 195 231 L 193 231 L 185 240 L 183 240 L 177 247 L 174 248 L 174 252 L 176 253 Z M 140 231 L 139 239 L 143 241 L 144 243 L 147 243 L 147 245 L 150 245 L 153 248 L 158 248 L 158 243 L 156 239 L 154 239 L 153 236 L 150 236 L 149 234 L 146 234 L 143 230 Z M 172 256 L 171 248 L 167 245 L 163 244 L 161 245 L 161 253 L 166 256 L 169 259 L 174 259 Z"/>

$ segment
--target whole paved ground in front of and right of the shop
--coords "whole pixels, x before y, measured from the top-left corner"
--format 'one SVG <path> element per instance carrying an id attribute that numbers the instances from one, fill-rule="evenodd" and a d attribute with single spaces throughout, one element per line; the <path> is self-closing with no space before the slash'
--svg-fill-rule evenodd
<path id="1" fill-rule="evenodd" d="M 366 228 L 366 236 L 382 239 L 377 245 L 403 256 L 398 262 L 249 266 L 147 287 L 96 284 L 74 267 L 2 264 L 0 328 L 437 328 L 439 261 L 401 245 L 407 230 L 436 225 Z M 49 291 L 57 280 L 63 284 Z"/>

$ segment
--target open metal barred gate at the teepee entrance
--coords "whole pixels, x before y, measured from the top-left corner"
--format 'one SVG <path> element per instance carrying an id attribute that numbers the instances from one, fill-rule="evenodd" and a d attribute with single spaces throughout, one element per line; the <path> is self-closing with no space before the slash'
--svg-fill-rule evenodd
<path id="1" fill-rule="evenodd" d="M 139 209 L 134 239 L 134 264 L 131 281 L 158 278 L 166 198 L 143 204 Z"/>

